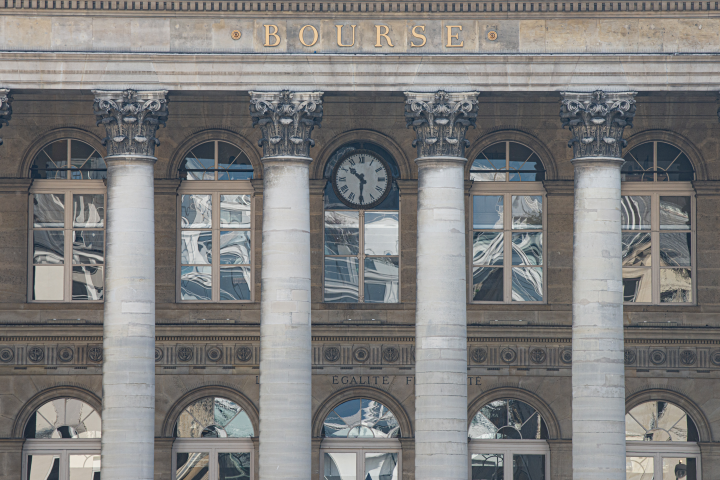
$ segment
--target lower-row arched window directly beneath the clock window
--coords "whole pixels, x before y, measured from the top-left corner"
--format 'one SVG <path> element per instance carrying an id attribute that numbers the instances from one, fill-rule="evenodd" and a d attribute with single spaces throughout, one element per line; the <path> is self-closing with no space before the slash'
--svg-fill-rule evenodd
<path id="1" fill-rule="evenodd" d="M 400 425 L 380 402 L 348 400 L 323 421 L 320 469 L 325 480 L 399 480 Z"/>

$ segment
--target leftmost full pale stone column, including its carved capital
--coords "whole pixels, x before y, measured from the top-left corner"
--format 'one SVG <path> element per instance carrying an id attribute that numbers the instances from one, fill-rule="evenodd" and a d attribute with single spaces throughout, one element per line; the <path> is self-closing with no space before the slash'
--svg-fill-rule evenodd
<path id="1" fill-rule="evenodd" d="M 103 480 L 152 480 L 155 439 L 155 132 L 165 91 L 94 90 L 107 138 Z"/>

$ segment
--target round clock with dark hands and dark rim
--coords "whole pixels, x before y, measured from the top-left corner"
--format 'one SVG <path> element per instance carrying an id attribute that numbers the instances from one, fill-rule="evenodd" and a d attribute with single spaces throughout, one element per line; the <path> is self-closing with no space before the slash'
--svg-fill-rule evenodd
<path id="1" fill-rule="evenodd" d="M 338 160 L 332 177 L 340 201 L 353 208 L 372 208 L 390 191 L 390 169 L 368 150 L 353 150 Z"/>

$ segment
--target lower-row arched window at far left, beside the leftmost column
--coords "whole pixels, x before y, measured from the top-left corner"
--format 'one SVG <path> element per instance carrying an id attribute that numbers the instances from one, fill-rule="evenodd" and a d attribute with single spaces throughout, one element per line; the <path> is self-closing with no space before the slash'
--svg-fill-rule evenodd
<path id="1" fill-rule="evenodd" d="M 75 398 L 38 408 L 25 425 L 23 479 L 100 480 L 100 414 Z"/>

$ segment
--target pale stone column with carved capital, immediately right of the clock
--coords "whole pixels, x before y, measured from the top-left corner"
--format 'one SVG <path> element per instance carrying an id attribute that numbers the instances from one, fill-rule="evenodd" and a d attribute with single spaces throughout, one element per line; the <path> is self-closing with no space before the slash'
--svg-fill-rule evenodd
<path id="1" fill-rule="evenodd" d="M 415 478 L 467 480 L 465 131 L 477 92 L 406 92 L 417 139 Z"/>

